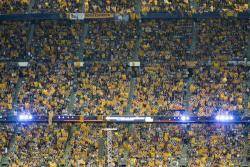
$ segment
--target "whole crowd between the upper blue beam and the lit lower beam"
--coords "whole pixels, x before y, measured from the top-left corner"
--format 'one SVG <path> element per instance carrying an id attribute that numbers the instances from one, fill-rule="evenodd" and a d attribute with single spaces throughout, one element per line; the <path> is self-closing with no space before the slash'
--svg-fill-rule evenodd
<path id="1" fill-rule="evenodd" d="M 79 23 L 45 21 L 35 25 L 27 42 L 28 33 L 14 29 L 25 24 L 4 23 L 1 27 L 7 33 L 1 34 L 1 43 L 7 47 L 1 48 L 1 59 L 20 60 L 26 55 L 30 65 L 10 69 L 8 63 L 2 63 L 1 112 L 13 108 L 14 90 L 21 81 L 16 94 L 21 110 L 67 114 L 69 96 L 76 92 L 75 114 L 122 115 L 128 104 L 129 82 L 135 77 L 125 62 L 138 56 L 143 63 L 137 70 L 133 114 L 179 115 L 170 112 L 176 110 L 199 116 L 220 110 L 242 113 L 249 107 L 249 69 L 225 62 L 245 61 L 247 21 L 193 24 L 184 20 L 143 22 L 139 39 L 133 22 L 116 26 L 89 22 L 83 39 L 85 30 Z M 141 41 L 138 54 L 137 40 Z M 6 55 L 10 56 L 6 59 Z M 82 60 L 103 63 L 84 67 L 73 63 Z"/>

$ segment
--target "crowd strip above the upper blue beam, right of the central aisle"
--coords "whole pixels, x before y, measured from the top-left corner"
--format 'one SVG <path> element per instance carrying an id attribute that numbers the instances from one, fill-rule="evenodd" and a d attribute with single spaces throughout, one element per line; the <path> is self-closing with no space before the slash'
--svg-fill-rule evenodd
<path id="1" fill-rule="evenodd" d="M 148 12 L 170 12 L 170 13 L 206 13 L 206 12 L 222 12 L 232 15 L 248 10 L 247 0 L 142 0 L 142 13 Z"/>

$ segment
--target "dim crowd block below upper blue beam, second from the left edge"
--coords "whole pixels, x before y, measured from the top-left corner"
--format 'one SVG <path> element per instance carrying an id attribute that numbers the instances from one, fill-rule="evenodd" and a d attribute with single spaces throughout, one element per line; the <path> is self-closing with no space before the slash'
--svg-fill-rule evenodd
<path id="1" fill-rule="evenodd" d="M 79 60 L 81 25 L 65 21 L 36 24 L 28 55 L 30 59 L 51 61 Z"/>

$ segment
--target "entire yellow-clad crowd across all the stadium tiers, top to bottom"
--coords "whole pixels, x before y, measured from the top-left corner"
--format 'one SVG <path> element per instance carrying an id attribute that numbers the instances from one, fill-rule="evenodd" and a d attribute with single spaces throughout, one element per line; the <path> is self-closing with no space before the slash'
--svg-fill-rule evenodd
<path id="1" fill-rule="evenodd" d="M 31 0 L 0 0 L 0 13 L 26 13 Z M 36 0 L 32 12 L 133 13 L 136 1 Z M 247 1 L 142 0 L 142 13 L 246 11 Z M 195 31 L 194 31 L 195 26 Z M 30 45 L 29 23 L 1 22 L 0 60 L 26 57 L 29 67 L 0 63 L 0 114 L 14 108 L 38 115 L 68 114 L 69 97 L 76 93 L 73 114 L 124 115 L 128 106 L 131 69 L 125 64 L 138 56 L 131 100 L 133 115 L 179 116 L 186 110 L 198 116 L 218 112 L 242 114 L 247 68 L 228 65 L 244 60 L 248 20 L 145 21 L 135 55 L 136 23 L 89 22 L 87 35 L 80 23 L 43 21 L 35 24 Z M 197 36 L 197 42 L 194 42 Z M 194 50 L 191 51 L 195 43 Z M 83 46 L 82 50 L 80 47 Z M 136 53 L 137 54 L 137 53 Z M 80 60 L 109 61 L 75 67 Z M 194 64 L 187 65 L 190 62 Z M 39 60 L 39 61 L 38 61 Z M 199 62 L 200 61 L 200 62 Z M 203 62 L 208 62 L 204 64 Z M 191 67 L 190 67 L 191 66 Z M 192 71 L 192 72 L 191 72 Z M 76 75 L 76 79 L 74 78 Z M 19 92 L 15 94 L 18 81 Z M 185 97 L 189 92 L 186 102 Z M 187 103 L 187 104 L 186 104 Z M 106 141 L 104 125 L 81 124 L 69 139 L 72 125 L 20 125 L 17 128 L 11 166 L 56 167 L 66 163 L 66 144 L 72 148 L 72 166 L 105 166 L 101 153 Z M 114 163 L 128 166 L 166 166 L 178 162 L 187 147 L 188 166 L 239 166 L 249 136 L 243 125 L 117 125 L 113 136 Z M 1 126 L 0 158 L 8 152 L 12 126 Z M 101 141 L 103 139 L 104 141 Z"/>

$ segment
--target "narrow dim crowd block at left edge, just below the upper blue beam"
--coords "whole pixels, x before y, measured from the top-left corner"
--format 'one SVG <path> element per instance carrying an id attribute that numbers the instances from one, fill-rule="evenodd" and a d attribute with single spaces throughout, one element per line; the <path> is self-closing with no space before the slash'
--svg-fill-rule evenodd
<path id="1" fill-rule="evenodd" d="M 26 22 L 1 22 L 0 60 L 16 60 L 26 56 L 27 30 Z"/>

